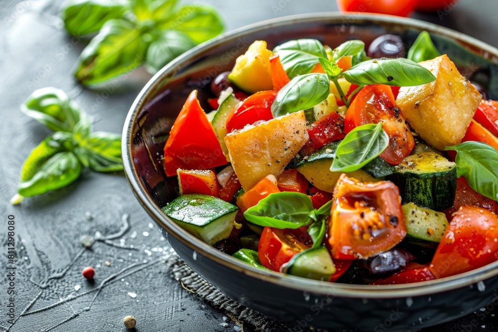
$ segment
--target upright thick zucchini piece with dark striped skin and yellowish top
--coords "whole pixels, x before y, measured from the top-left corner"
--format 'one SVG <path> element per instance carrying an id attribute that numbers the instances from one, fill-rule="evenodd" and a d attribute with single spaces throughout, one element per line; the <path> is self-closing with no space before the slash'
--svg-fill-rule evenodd
<path id="1" fill-rule="evenodd" d="M 454 162 L 434 152 L 410 155 L 388 179 L 396 184 L 402 203 L 442 211 L 453 206 L 457 188 Z"/>

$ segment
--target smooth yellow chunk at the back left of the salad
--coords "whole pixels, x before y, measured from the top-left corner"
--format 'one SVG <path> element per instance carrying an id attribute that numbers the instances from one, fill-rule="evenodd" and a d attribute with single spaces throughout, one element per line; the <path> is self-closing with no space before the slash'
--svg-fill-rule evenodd
<path id="1" fill-rule="evenodd" d="M 246 54 L 239 56 L 228 79 L 242 90 L 254 94 L 273 90 L 270 76 L 271 51 L 264 40 L 254 41 Z"/>

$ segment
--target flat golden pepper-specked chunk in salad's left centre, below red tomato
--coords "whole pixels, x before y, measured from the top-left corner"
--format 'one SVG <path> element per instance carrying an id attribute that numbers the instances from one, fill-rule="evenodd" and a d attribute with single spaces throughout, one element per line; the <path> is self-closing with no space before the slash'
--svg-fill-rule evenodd
<path id="1" fill-rule="evenodd" d="M 225 136 L 230 161 L 244 190 L 278 176 L 308 140 L 304 111 L 246 126 Z"/>

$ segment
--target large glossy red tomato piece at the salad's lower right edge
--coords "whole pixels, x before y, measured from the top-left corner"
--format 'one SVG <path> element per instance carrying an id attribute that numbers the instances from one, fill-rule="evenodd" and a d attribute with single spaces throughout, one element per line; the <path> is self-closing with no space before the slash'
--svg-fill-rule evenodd
<path id="1" fill-rule="evenodd" d="M 454 213 L 429 269 L 437 278 L 444 278 L 485 266 L 497 259 L 497 215 L 466 205 Z"/>

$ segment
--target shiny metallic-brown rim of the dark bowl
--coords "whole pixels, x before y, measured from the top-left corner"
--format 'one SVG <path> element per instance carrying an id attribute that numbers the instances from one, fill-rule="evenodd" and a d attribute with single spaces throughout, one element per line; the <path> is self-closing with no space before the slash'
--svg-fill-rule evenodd
<path id="1" fill-rule="evenodd" d="M 489 54 L 494 55 L 498 59 L 498 49 L 474 37 L 468 36 L 464 33 L 436 25 L 433 23 L 421 21 L 413 18 L 397 17 L 383 14 L 363 14 L 363 13 L 341 13 L 341 12 L 320 12 L 320 13 L 307 13 L 283 16 L 273 19 L 260 21 L 257 23 L 249 24 L 232 31 L 228 31 L 219 35 L 218 37 L 204 42 L 186 53 L 180 55 L 168 65 L 163 67 L 157 74 L 155 74 L 143 87 L 135 101 L 133 102 L 128 114 L 126 116 L 122 136 L 122 157 L 124 165 L 124 173 L 128 183 L 133 191 L 133 194 L 138 199 L 139 203 L 145 211 L 156 221 L 164 230 L 167 236 L 174 236 L 176 240 L 182 242 L 184 245 L 194 250 L 194 252 L 207 257 L 210 260 L 217 262 L 229 269 L 236 270 L 240 273 L 246 274 L 250 277 L 261 279 L 265 282 L 277 284 L 294 290 L 308 292 L 313 294 L 322 294 L 326 296 L 340 296 L 348 298 L 400 298 L 400 297 L 416 297 L 431 295 L 439 292 L 451 291 L 465 286 L 471 286 L 475 283 L 480 283 L 486 279 L 498 275 L 498 261 L 474 269 L 469 272 L 461 273 L 455 276 L 422 281 L 411 284 L 401 285 L 351 285 L 331 283 L 328 281 L 318 281 L 305 279 L 287 274 L 274 272 L 274 271 L 261 271 L 249 264 L 236 259 L 228 254 L 225 254 L 212 246 L 202 242 L 189 234 L 183 228 L 178 226 L 174 221 L 167 218 L 156 204 L 148 197 L 144 187 L 140 183 L 135 169 L 133 167 L 133 160 L 131 156 L 131 138 L 133 132 L 133 124 L 139 111 L 144 103 L 148 101 L 146 97 L 149 93 L 161 85 L 164 78 L 174 74 L 177 67 L 181 66 L 189 59 L 211 49 L 215 49 L 228 39 L 236 40 L 239 37 L 245 36 L 247 33 L 263 31 L 277 26 L 285 26 L 292 23 L 338 23 L 340 20 L 344 22 L 368 22 L 370 24 L 390 23 L 399 24 L 406 28 L 415 28 L 420 30 L 427 30 L 428 32 L 437 33 L 439 35 L 449 37 L 464 43 L 470 44 L 478 49 L 481 49 Z M 351 21 L 352 20 L 352 21 Z M 478 287 L 481 289 L 481 287 Z"/>

